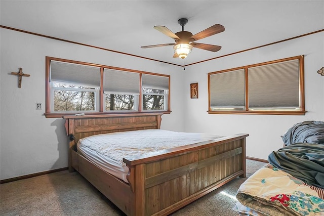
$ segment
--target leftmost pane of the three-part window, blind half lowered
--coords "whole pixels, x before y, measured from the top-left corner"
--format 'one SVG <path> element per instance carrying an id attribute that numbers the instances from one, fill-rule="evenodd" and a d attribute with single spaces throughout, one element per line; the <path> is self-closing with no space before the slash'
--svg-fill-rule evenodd
<path id="1" fill-rule="evenodd" d="M 51 62 L 53 112 L 99 111 L 100 68 Z"/>

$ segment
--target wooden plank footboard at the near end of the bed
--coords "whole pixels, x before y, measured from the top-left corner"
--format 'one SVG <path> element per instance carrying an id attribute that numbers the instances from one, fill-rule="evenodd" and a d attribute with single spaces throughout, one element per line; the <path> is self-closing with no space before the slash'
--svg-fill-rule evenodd
<path id="1" fill-rule="evenodd" d="M 237 176 L 245 177 L 247 136 L 124 159 L 136 195 L 134 215 L 168 215 Z"/>

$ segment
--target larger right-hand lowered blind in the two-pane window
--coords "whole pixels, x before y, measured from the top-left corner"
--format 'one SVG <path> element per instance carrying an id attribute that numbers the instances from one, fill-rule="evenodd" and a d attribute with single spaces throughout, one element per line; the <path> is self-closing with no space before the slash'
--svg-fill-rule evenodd
<path id="1" fill-rule="evenodd" d="M 248 70 L 250 109 L 299 108 L 299 60 Z"/>

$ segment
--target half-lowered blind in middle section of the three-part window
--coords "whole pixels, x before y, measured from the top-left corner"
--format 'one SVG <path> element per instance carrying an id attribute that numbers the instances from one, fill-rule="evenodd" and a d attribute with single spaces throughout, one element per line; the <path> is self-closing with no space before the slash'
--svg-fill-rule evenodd
<path id="1" fill-rule="evenodd" d="M 104 92 L 139 94 L 140 74 L 105 68 Z"/>

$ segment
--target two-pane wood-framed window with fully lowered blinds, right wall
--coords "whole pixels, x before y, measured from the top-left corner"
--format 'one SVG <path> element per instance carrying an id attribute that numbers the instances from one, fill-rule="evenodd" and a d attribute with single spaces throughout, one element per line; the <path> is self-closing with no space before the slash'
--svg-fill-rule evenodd
<path id="1" fill-rule="evenodd" d="M 303 115 L 303 56 L 208 74 L 209 113 Z"/>

